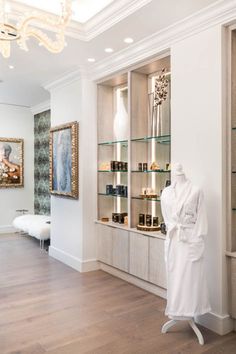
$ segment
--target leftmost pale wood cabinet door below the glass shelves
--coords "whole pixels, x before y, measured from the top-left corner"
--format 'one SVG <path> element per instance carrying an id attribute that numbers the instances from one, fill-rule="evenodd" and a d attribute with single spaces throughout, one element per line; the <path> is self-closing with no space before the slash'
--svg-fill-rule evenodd
<path id="1" fill-rule="evenodd" d="M 112 227 L 97 225 L 98 260 L 112 265 Z"/>

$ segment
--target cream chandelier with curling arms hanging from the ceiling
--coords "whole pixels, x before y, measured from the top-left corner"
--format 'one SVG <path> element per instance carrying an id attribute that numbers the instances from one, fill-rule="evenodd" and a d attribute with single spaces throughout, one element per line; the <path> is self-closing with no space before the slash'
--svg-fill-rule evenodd
<path id="1" fill-rule="evenodd" d="M 71 0 L 61 0 L 60 2 L 60 16 L 34 11 L 29 16 L 13 21 L 10 20 L 9 3 L 0 0 L 0 53 L 2 56 L 4 58 L 10 57 L 11 43 L 14 41 L 21 49 L 28 51 L 27 41 L 31 37 L 50 52 L 61 52 L 65 46 L 65 29 L 72 10 Z M 45 31 L 55 32 L 55 39 L 51 39 Z"/>

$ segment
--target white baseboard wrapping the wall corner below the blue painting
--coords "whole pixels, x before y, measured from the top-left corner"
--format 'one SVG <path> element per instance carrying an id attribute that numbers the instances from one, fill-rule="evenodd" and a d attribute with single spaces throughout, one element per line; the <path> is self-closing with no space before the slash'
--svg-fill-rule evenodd
<path id="1" fill-rule="evenodd" d="M 49 247 L 49 256 L 81 273 L 100 269 L 99 262 L 95 259 L 81 260 L 53 246 Z"/>

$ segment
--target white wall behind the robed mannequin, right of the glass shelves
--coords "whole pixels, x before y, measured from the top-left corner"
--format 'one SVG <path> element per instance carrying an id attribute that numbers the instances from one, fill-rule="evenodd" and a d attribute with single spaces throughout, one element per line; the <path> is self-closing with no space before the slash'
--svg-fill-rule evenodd
<path id="1" fill-rule="evenodd" d="M 216 26 L 171 48 L 172 162 L 203 188 L 206 266 L 213 313 L 227 316 L 222 118 L 222 32 Z"/>

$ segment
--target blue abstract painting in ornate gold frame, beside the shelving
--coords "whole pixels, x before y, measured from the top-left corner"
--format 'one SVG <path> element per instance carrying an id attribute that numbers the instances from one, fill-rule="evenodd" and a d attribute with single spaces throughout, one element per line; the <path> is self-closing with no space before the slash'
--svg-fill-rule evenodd
<path id="1" fill-rule="evenodd" d="M 50 192 L 53 195 L 79 197 L 78 134 L 77 122 L 50 129 Z"/>

